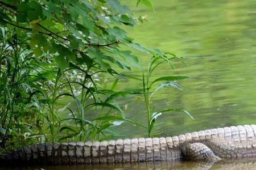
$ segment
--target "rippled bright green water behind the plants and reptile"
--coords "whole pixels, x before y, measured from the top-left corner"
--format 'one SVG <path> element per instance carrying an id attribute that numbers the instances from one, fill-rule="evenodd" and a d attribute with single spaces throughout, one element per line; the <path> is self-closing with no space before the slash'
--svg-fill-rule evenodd
<path id="1" fill-rule="evenodd" d="M 176 71 L 163 66 L 156 75 L 187 75 L 180 81 L 183 91 L 165 88 L 156 93 L 156 111 L 181 108 L 184 113 L 159 117 L 154 135 L 177 135 L 215 127 L 256 122 L 256 1 L 152 1 L 155 12 L 128 1 L 144 22 L 127 32 L 136 41 L 185 57 Z M 139 54 L 142 65 L 150 56 Z M 135 69 L 133 74 L 141 74 Z M 153 78 L 154 79 L 154 78 Z M 134 80 L 121 80 L 119 89 L 141 87 Z M 109 80 L 109 84 L 112 82 Z M 130 96 L 127 116 L 146 124 L 142 96 Z M 118 128 L 127 137 L 146 136 L 146 130 L 130 124 Z"/>

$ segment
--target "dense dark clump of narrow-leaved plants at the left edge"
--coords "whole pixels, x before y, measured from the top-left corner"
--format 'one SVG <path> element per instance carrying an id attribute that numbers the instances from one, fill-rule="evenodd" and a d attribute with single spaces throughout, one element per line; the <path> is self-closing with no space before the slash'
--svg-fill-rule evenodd
<path id="1" fill-rule="evenodd" d="M 44 63 L 32 56 L 26 34 L 0 29 L 0 144 L 5 148 L 32 142 L 41 130 L 41 104 L 34 91 L 39 84 L 33 79 Z"/>

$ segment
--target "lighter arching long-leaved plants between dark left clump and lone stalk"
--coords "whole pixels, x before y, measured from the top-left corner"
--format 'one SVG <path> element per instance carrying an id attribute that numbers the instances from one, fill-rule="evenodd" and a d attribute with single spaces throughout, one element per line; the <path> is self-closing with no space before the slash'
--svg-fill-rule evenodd
<path id="1" fill-rule="evenodd" d="M 137 124 L 127 119 L 122 109 L 112 102 L 118 96 L 133 94 L 137 91 L 115 92 L 113 88 L 112 90 L 100 90 L 92 75 L 81 76 L 83 78 L 79 82 L 76 79 L 77 75 L 70 76 L 71 74 L 67 74 L 67 72 L 68 70 L 61 74 L 59 70 L 52 86 L 46 85 L 51 89 L 50 92 L 46 92 L 47 101 L 51 101 L 51 104 L 45 107 L 46 112 L 43 115 L 47 120 L 48 126 L 46 127 L 50 130 L 51 141 L 60 142 L 67 139 L 101 141 L 122 135 L 113 130 L 113 126 L 121 125 L 124 121 Z M 76 94 L 75 91 L 81 93 Z M 71 104 L 66 104 L 63 100 L 68 100 L 68 103 Z M 69 113 L 71 116 L 58 116 L 61 115 L 57 111 L 59 108 L 61 108 L 61 112 L 67 110 L 65 115 Z M 96 109 L 96 112 L 100 110 L 100 115 L 94 116 L 92 119 L 86 118 L 86 113 L 92 112 L 93 109 Z"/>

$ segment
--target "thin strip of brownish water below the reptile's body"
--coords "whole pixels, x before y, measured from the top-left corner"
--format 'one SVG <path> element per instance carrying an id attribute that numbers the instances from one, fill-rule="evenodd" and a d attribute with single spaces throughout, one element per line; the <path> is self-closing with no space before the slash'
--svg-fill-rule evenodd
<path id="1" fill-rule="evenodd" d="M 218 163 L 195 163 L 195 162 L 150 162 L 150 163 L 130 163 L 130 164 L 99 164 L 99 165 L 63 165 L 63 166 L 34 166 L 34 167 L 10 167 L 0 168 L 0 170 L 98 170 L 98 169 L 218 169 L 218 170 L 232 170 L 232 169 L 256 169 L 256 160 L 233 160 L 229 162 Z"/>

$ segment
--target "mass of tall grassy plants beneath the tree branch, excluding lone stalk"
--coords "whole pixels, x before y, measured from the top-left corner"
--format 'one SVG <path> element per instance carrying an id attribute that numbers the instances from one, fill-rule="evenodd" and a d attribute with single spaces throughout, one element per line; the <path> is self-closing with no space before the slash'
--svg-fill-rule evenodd
<path id="1" fill-rule="evenodd" d="M 1 28 L 0 38 L 1 148 L 46 141 L 101 141 L 122 135 L 113 126 L 125 121 L 137 124 L 126 118 L 115 99 L 141 90 L 115 91 L 118 80 L 111 89 L 103 89 L 96 80 L 104 71 L 94 63 L 72 64 L 61 71 L 53 56 L 35 56 L 22 32 L 16 36 Z M 89 119 L 91 112 L 96 114 Z"/>

